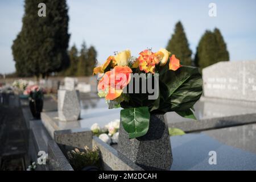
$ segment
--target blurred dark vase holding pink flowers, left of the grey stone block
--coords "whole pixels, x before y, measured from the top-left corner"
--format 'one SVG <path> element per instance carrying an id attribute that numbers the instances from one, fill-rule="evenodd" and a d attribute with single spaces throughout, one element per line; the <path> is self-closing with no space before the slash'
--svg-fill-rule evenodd
<path id="1" fill-rule="evenodd" d="M 23 94 L 28 96 L 30 111 L 35 119 L 40 119 L 40 113 L 43 110 L 43 96 L 45 90 L 38 85 L 27 86 Z"/>

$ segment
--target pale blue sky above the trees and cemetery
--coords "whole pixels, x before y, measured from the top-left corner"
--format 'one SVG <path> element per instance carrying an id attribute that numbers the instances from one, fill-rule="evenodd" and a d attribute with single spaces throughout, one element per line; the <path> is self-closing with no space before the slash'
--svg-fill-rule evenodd
<path id="1" fill-rule="evenodd" d="M 217 17 L 208 15 L 216 3 Z M 0 0 L 0 73 L 15 71 L 11 45 L 22 27 L 23 1 Z M 147 47 L 166 47 L 181 20 L 190 48 L 195 53 L 205 30 L 220 28 L 231 61 L 256 60 L 255 0 L 68 0 L 69 33 L 80 48 L 82 40 L 98 51 L 104 62 L 114 51 L 130 49 L 134 56 Z M 36 7 L 37 8 L 37 7 Z"/>

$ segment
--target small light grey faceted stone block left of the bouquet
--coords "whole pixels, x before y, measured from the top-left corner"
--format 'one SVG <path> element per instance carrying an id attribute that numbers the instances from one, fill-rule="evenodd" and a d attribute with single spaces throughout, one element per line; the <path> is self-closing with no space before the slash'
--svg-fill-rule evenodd
<path id="1" fill-rule="evenodd" d="M 76 90 L 58 90 L 58 114 L 61 121 L 74 121 L 80 115 L 79 93 Z"/>

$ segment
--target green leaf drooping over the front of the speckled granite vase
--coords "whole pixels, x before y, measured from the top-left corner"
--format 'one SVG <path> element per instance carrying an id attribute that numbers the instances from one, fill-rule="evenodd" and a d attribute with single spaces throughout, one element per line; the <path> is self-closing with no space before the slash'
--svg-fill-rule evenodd
<path id="1" fill-rule="evenodd" d="M 123 129 L 129 134 L 129 138 L 142 137 L 148 131 L 150 112 L 148 107 L 134 107 L 121 110 L 121 122 Z"/>

